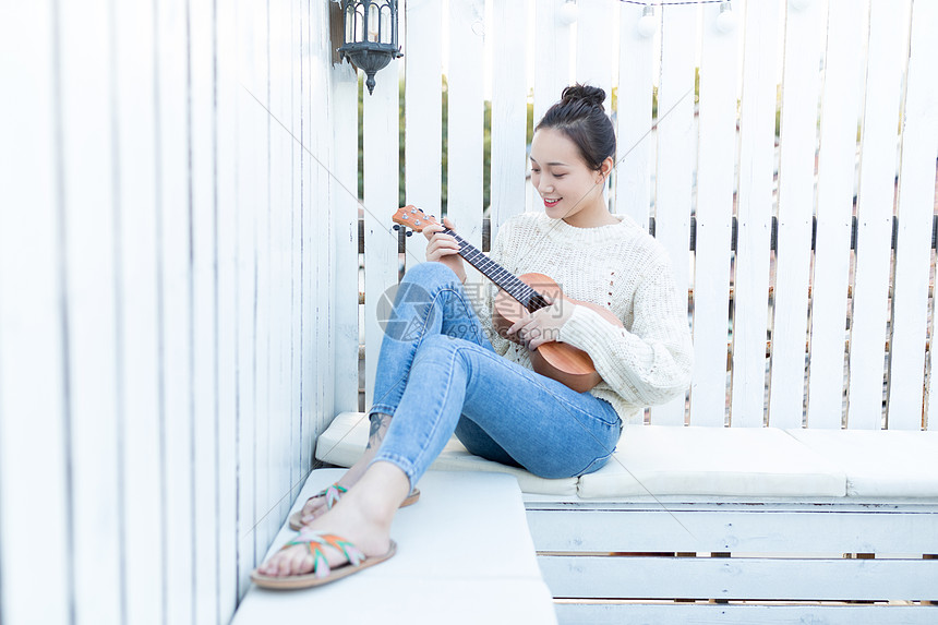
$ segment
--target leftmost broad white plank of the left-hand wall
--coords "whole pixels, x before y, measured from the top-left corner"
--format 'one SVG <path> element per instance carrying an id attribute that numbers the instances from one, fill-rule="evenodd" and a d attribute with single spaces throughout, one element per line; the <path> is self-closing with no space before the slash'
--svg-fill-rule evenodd
<path id="1" fill-rule="evenodd" d="M 61 16 L 41 1 L 4 14 L 0 75 L 17 97 L 0 116 L 0 620 L 67 623 L 74 537 L 57 144 Z"/>

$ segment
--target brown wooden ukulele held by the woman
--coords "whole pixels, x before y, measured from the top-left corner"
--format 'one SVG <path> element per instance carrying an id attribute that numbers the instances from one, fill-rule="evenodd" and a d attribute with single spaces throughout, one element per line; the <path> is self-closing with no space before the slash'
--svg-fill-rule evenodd
<path id="1" fill-rule="evenodd" d="M 392 219 L 395 224 L 417 232 L 437 224 L 433 216 L 428 216 L 423 211 L 411 205 L 398 208 Z M 577 305 L 588 307 L 610 323 L 624 327 L 622 321 L 604 308 L 564 297 L 557 283 L 548 276 L 543 274 L 515 276 L 449 228 L 444 227 L 443 232 L 455 237 L 459 244 L 459 255 L 498 287 L 500 290 L 495 296 L 493 307 L 492 325 L 503 338 L 519 342 L 507 335 L 507 329 L 530 313 L 549 307 L 550 300 L 558 298 Z M 556 380 L 577 393 L 586 393 L 602 380 L 589 354 L 565 342 L 544 342 L 538 349 L 529 349 L 528 356 L 536 372 Z"/>

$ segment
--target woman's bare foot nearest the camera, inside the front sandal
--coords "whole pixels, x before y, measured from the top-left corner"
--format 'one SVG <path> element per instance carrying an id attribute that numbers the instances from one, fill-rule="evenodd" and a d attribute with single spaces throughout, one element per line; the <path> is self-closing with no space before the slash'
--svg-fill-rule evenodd
<path id="1" fill-rule="evenodd" d="M 365 471 L 354 491 L 326 510 L 303 530 L 340 536 L 365 556 L 380 556 L 390 546 L 390 522 L 400 502 L 410 492 L 407 476 L 395 465 L 375 462 Z M 330 546 L 322 546 L 330 567 L 346 564 L 346 556 Z M 274 554 L 257 567 L 262 575 L 286 577 L 313 570 L 313 555 L 305 544 L 292 545 Z"/>

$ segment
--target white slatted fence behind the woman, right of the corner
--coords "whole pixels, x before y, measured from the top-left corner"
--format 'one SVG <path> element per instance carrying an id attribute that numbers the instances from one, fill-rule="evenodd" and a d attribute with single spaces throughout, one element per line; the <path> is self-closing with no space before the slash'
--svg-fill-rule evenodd
<path id="1" fill-rule="evenodd" d="M 640 3 L 578 0 L 572 23 L 564 4 L 405 2 L 407 202 L 440 209 L 441 75 L 448 213 L 477 243 L 484 217 L 494 237 L 530 202 L 526 106 L 537 122 L 574 81 L 614 89 L 610 204 L 644 227 L 653 218 L 688 291 L 697 359 L 686 400 L 652 408 L 650 421 L 934 429 L 938 51 L 925 33 L 938 32 L 935 2 L 665 2 L 645 17 L 645 34 Z M 380 74 L 380 86 L 393 88 L 392 76 Z M 380 97 L 392 96 L 366 97 L 366 110 Z M 490 207 L 481 200 L 485 99 Z M 370 197 L 369 163 L 390 167 L 397 152 L 396 134 L 370 130 L 368 112 L 364 133 L 373 302 L 397 280 L 384 265 L 396 204 L 389 192 L 381 205 Z M 369 140 L 382 133 L 392 144 Z M 412 265 L 423 241 L 409 241 Z M 380 334 L 368 327 L 365 336 L 368 389 Z"/>

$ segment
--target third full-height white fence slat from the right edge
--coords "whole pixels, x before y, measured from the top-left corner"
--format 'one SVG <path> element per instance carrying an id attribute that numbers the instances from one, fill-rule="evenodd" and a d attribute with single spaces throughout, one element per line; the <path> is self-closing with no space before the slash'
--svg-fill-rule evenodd
<path id="1" fill-rule="evenodd" d="M 843 419 L 846 296 L 861 95 L 857 85 L 863 62 L 862 16 L 863 11 L 853 0 L 830 2 L 818 148 L 817 242 L 811 283 L 809 428 L 839 429 Z"/>

